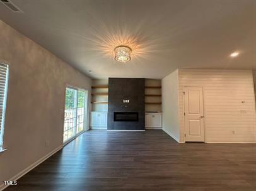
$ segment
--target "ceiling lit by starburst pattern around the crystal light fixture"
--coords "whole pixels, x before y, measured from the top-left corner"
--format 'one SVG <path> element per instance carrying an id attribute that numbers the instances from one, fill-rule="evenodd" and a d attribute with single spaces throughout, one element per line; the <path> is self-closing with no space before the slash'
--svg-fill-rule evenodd
<path id="1" fill-rule="evenodd" d="M 95 79 L 256 69 L 254 0 L 11 1 L 24 13 L 0 4 L 5 23 Z M 131 62 L 113 60 L 118 45 L 131 46 Z M 240 56 L 230 58 L 234 51 Z"/>

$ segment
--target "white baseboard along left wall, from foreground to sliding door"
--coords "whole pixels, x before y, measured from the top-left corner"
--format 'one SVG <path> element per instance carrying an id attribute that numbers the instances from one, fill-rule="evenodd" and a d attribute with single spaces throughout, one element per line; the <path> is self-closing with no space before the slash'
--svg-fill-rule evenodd
<path id="1" fill-rule="evenodd" d="M 57 153 L 57 151 L 62 149 L 62 145 L 59 146 L 58 148 L 55 148 L 55 150 L 50 151 L 50 153 L 48 153 L 47 155 L 43 156 L 42 158 L 40 158 L 39 160 L 35 161 L 35 163 L 33 163 L 32 165 L 26 167 L 24 170 L 22 170 L 21 172 L 19 172 L 18 174 L 16 174 L 14 177 L 10 178 L 9 181 L 15 181 L 18 180 L 19 178 L 23 177 L 26 173 L 30 172 L 30 170 L 32 170 L 33 168 L 35 168 L 36 166 L 40 165 L 40 163 L 42 163 L 43 161 L 47 160 L 47 158 L 49 158 L 50 156 L 54 155 L 55 153 Z M 0 185 L 0 191 L 4 190 L 5 188 L 7 188 L 9 185 L 4 185 L 3 183 Z"/>

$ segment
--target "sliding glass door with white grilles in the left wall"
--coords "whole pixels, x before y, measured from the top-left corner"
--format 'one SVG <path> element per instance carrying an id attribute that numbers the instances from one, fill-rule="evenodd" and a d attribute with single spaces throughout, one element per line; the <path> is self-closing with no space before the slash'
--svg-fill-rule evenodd
<path id="1" fill-rule="evenodd" d="M 66 87 L 63 143 L 86 129 L 87 90 Z"/>

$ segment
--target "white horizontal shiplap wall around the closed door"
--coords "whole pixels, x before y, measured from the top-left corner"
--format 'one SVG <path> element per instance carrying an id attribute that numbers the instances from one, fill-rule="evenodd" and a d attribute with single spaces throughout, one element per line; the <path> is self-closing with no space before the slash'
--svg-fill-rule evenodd
<path id="1" fill-rule="evenodd" d="M 184 86 L 204 88 L 206 142 L 256 142 L 252 70 L 179 70 L 180 141 Z"/>

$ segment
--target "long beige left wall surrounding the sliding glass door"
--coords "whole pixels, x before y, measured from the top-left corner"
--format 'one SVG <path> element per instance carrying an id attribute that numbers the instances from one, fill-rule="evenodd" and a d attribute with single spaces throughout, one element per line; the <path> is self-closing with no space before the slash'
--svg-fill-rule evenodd
<path id="1" fill-rule="evenodd" d="M 91 80 L 3 21 L 0 42 L 0 61 L 10 66 L 2 183 L 62 145 L 65 85 L 90 95 Z"/>

